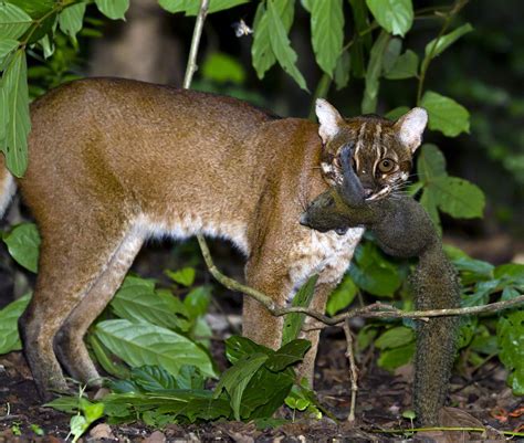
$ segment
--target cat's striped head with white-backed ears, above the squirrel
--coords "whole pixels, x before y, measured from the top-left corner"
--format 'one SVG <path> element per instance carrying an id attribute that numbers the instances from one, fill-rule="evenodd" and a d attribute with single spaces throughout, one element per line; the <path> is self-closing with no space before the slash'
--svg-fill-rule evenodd
<path id="1" fill-rule="evenodd" d="M 389 196 L 408 179 L 428 123 L 426 109 L 415 107 L 397 122 L 376 115 L 343 118 L 334 106 L 318 98 L 316 115 L 323 143 L 322 173 L 329 184 L 343 180 L 339 154 L 346 145 L 353 146 L 353 168 L 367 200 Z"/>

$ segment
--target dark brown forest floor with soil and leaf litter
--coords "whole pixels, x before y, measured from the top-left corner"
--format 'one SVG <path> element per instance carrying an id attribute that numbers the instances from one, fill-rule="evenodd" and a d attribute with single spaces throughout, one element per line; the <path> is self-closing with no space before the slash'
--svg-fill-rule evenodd
<path id="1" fill-rule="evenodd" d="M 443 414 L 448 425 L 486 428 L 480 432 L 419 432 L 413 439 L 408 431 L 409 420 L 402 419 L 410 409 L 412 367 L 406 366 L 389 373 L 376 367 L 368 356 L 367 368 L 360 372 L 356 423 L 347 422 L 349 381 L 344 356 L 346 344 L 342 336 L 327 333 L 317 361 L 316 384 L 318 400 L 334 416 L 321 421 L 295 416 L 275 429 L 256 429 L 253 423 L 219 422 L 210 424 L 167 425 L 155 430 L 143 424 L 95 424 L 81 441 L 119 442 L 503 442 L 501 431 L 515 431 L 523 425 L 524 403 L 512 395 L 505 384 L 505 372 L 489 362 L 473 376 L 455 376 L 451 384 L 450 404 Z M 218 349 L 220 352 L 221 349 Z M 517 412 L 520 410 L 520 412 Z M 513 413 L 513 414 L 512 414 Z M 61 442 L 69 433 L 70 416 L 43 408 L 38 398 L 31 373 L 21 352 L 0 357 L 0 443 Z M 392 434 L 384 431 L 407 430 Z M 381 432 L 382 431 L 382 432 Z M 38 433 L 43 435 L 39 436 Z M 514 440 L 518 441 L 518 440 Z M 524 440 L 523 440 L 524 441 Z"/>

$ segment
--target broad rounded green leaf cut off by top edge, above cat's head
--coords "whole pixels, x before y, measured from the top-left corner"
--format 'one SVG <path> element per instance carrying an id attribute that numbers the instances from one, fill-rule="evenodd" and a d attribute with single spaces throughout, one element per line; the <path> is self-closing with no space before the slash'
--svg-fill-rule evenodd
<path id="1" fill-rule="evenodd" d="M 413 24 L 411 0 L 366 0 L 378 24 L 394 35 L 404 36 Z"/>

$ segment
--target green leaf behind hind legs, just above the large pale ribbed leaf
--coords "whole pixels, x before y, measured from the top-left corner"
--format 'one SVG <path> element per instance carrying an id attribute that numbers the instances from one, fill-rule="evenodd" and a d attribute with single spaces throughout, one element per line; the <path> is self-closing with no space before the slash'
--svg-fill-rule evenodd
<path id="1" fill-rule="evenodd" d="M 109 306 L 118 317 L 133 323 L 185 329 L 185 320 L 176 315 L 179 312 L 174 312 L 172 305 L 155 292 L 155 284 L 144 278 L 127 276 Z"/>

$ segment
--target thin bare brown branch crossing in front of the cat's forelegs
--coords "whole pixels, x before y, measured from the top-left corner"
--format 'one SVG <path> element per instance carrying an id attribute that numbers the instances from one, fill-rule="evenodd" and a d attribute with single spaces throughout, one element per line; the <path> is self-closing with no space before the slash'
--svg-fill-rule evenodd
<path id="1" fill-rule="evenodd" d="M 472 314 L 484 314 L 484 313 L 496 313 L 503 309 L 509 309 L 520 304 L 524 304 L 524 295 L 520 295 L 510 300 L 491 303 L 483 306 L 472 306 L 472 307 L 462 307 L 462 308 L 451 308 L 451 309 L 431 309 L 431 310 L 411 310 L 405 312 L 397 309 L 394 306 L 386 305 L 384 303 L 374 303 L 368 306 L 358 307 L 350 309 L 346 313 L 339 314 L 335 317 L 328 317 L 323 313 L 298 307 L 291 306 L 284 307 L 276 305 L 271 297 L 264 293 L 254 289 L 250 286 L 243 285 L 240 282 L 237 282 L 233 278 L 228 277 L 222 274 L 218 267 L 214 265 L 209 252 L 209 247 L 206 243 L 206 240 L 201 235 L 197 236 L 200 249 L 202 251 L 202 256 L 206 262 L 206 265 L 209 268 L 211 275 L 228 289 L 237 291 L 242 294 L 249 295 L 259 303 L 261 303 L 271 314 L 274 316 L 284 316 L 292 313 L 305 314 L 310 317 L 316 318 L 327 326 L 338 325 L 345 321 L 347 318 L 353 317 L 363 317 L 363 318 L 417 318 L 419 320 L 428 320 L 430 317 L 442 317 L 442 316 L 457 316 L 457 315 L 472 315 Z"/>

